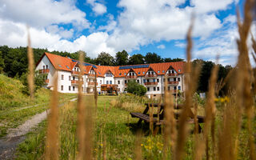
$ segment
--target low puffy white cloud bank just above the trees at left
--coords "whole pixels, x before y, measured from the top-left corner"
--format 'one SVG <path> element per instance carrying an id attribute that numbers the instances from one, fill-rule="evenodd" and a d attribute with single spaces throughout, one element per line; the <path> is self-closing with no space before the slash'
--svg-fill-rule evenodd
<path id="1" fill-rule="evenodd" d="M 27 46 L 26 25 L 0 19 L 0 44 L 11 47 Z M 89 36 L 81 36 L 74 42 L 62 39 L 58 34 L 48 33 L 46 30 L 30 28 L 31 44 L 35 48 L 48 48 L 48 50 L 60 50 L 75 52 L 84 50 L 90 57 L 97 57 L 102 51 L 110 54 L 117 50 L 107 46 L 109 35 L 104 32 L 97 32 Z"/>

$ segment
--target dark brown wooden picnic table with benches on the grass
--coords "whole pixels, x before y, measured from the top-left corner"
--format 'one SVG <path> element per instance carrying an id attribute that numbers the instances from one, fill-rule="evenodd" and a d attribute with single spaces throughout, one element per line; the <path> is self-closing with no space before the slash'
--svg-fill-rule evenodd
<path id="1" fill-rule="evenodd" d="M 146 123 L 150 123 L 150 115 L 147 114 L 150 107 L 160 107 L 160 110 L 158 110 L 158 114 L 153 114 L 153 119 L 152 122 L 154 123 L 155 129 L 154 129 L 154 134 L 158 133 L 159 126 L 165 125 L 166 121 L 164 120 L 164 105 L 163 104 L 158 104 L 158 103 L 145 103 L 146 108 L 143 111 L 143 113 L 138 113 L 138 112 L 130 112 L 130 115 L 132 118 L 139 118 L 138 120 L 138 126 L 141 125 L 142 121 Z M 180 110 L 182 109 L 182 105 L 174 106 L 174 110 Z M 192 113 L 192 111 L 191 111 Z M 180 117 L 181 113 L 179 112 L 174 112 L 174 118 L 176 119 L 176 122 L 178 123 L 178 118 Z M 203 123 L 205 121 L 204 116 L 197 115 L 198 118 L 198 132 L 201 132 L 202 128 L 199 125 L 199 123 Z M 188 120 L 189 124 L 194 124 L 194 117 L 190 117 Z"/>

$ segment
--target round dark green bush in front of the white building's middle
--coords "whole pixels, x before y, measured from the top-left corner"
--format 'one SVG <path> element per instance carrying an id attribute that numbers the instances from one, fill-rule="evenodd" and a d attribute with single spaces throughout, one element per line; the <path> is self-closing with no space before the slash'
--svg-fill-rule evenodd
<path id="1" fill-rule="evenodd" d="M 127 92 L 130 94 L 135 94 L 138 96 L 143 96 L 146 94 L 146 87 L 138 84 L 136 81 L 129 81 L 127 83 Z"/>

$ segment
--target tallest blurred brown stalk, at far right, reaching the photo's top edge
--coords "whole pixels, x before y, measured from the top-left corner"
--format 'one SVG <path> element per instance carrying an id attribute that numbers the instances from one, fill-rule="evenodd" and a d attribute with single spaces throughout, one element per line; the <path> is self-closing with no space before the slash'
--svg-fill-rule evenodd
<path id="1" fill-rule="evenodd" d="M 239 13 L 238 13 L 238 33 L 240 39 L 237 40 L 238 43 L 238 86 L 236 88 L 236 103 L 238 105 L 238 109 L 242 111 L 242 106 L 246 109 L 246 117 L 247 117 L 247 128 L 249 131 L 249 146 L 250 146 L 250 158 L 256 159 L 255 155 L 255 146 L 254 146 L 254 138 L 253 138 L 253 131 L 252 131 L 252 118 L 254 117 L 254 110 L 253 110 L 253 98 L 251 94 L 251 73 L 252 69 L 250 66 L 250 59 L 248 53 L 248 47 L 246 44 L 246 40 L 250 33 L 250 26 L 252 23 L 252 11 L 254 10 L 254 0 L 246 0 L 245 7 L 244 7 L 244 19 L 241 22 Z M 240 84 L 239 84 L 240 82 Z M 239 131 L 239 130 L 238 130 Z M 238 133 L 236 133 L 238 135 Z M 238 145 L 237 145 L 238 146 Z M 235 149 L 235 156 L 237 155 Z"/>

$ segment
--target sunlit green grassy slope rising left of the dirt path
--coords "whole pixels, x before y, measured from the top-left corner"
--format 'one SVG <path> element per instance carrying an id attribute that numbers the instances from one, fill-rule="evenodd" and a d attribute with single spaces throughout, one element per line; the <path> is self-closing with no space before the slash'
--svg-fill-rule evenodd
<path id="1" fill-rule="evenodd" d="M 48 108 L 50 90 L 37 91 L 34 101 L 22 93 L 22 83 L 14 78 L 0 74 L 0 137 L 7 134 L 9 128 L 15 128 L 34 114 Z M 61 99 L 74 97 L 74 94 L 61 94 Z M 27 109 L 22 107 L 34 106 Z"/>

